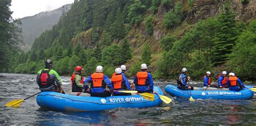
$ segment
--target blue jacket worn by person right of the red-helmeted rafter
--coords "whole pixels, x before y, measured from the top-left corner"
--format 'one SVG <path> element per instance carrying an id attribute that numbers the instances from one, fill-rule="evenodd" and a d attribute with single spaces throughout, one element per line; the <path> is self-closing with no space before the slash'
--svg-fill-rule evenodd
<path id="1" fill-rule="evenodd" d="M 109 78 L 107 78 L 106 75 L 104 75 L 104 81 L 107 84 L 107 87 L 112 91 L 113 87 L 111 85 L 111 82 L 109 81 Z M 84 90 L 87 90 L 89 88 L 87 85 L 87 82 L 89 83 L 92 82 L 91 76 L 89 76 L 84 80 Z M 91 93 L 103 93 L 105 91 L 106 91 L 105 88 L 91 88 Z"/>

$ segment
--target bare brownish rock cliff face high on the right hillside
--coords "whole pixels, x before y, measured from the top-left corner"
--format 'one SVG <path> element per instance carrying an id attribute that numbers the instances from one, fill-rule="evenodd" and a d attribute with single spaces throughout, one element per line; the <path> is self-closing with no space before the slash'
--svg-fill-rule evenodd
<path id="1" fill-rule="evenodd" d="M 145 34 L 144 24 L 140 24 L 127 34 L 130 40 L 130 45 L 135 49 L 134 53 L 140 53 L 142 45 L 149 43 L 152 52 L 161 52 L 160 39 L 167 34 L 174 34 L 177 38 L 181 38 L 187 31 L 189 31 L 195 23 L 200 19 L 207 19 L 208 17 L 216 17 L 222 10 L 226 0 L 194 0 L 192 5 L 188 5 L 188 0 L 183 0 L 184 22 L 170 30 L 164 30 L 162 22 L 164 13 L 169 11 L 164 6 L 159 6 L 158 12 L 154 15 L 154 28 L 152 36 Z M 237 20 L 247 22 L 250 19 L 255 19 L 256 15 L 256 1 L 250 1 L 247 4 L 242 4 L 239 0 L 231 0 L 231 8 L 237 15 Z M 147 13 L 144 17 L 147 17 Z"/>

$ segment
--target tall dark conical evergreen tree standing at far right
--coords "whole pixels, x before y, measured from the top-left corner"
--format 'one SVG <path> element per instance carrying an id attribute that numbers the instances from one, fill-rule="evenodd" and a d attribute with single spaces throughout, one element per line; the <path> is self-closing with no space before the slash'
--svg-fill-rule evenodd
<path id="1" fill-rule="evenodd" d="M 227 60 L 227 54 L 231 53 L 234 41 L 237 40 L 235 15 L 230 9 L 230 1 L 225 3 L 224 12 L 221 12 L 217 19 L 220 31 L 214 40 L 213 60 L 215 66 L 223 64 Z"/>

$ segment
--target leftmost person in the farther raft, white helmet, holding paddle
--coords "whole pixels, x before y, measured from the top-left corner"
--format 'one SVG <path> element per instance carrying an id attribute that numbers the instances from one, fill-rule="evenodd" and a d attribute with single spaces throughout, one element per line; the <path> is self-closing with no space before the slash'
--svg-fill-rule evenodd
<path id="1" fill-rule="evenodd" d="M 193 90 L 194 88 L 188 85 L 190 76 L 186 76 L 186 74 L 187 74 L 187 69 L 186 68 L 181 69 L 181 74 L 179 74 L 177 79 L 178 88 L 181 90 L 189 90 L 189 89 Z"/>

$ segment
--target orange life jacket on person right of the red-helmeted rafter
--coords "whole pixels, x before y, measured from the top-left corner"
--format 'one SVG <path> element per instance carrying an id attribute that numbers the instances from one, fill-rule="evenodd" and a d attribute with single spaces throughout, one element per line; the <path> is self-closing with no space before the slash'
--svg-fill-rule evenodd
<path id="1" fill-rule="evenodd" d="M 92 78 L 92 86 L 91 88 L 102 87 L 104 88 L 104 74 L 103 73 L 93 73 L 91 75 Z"/>

